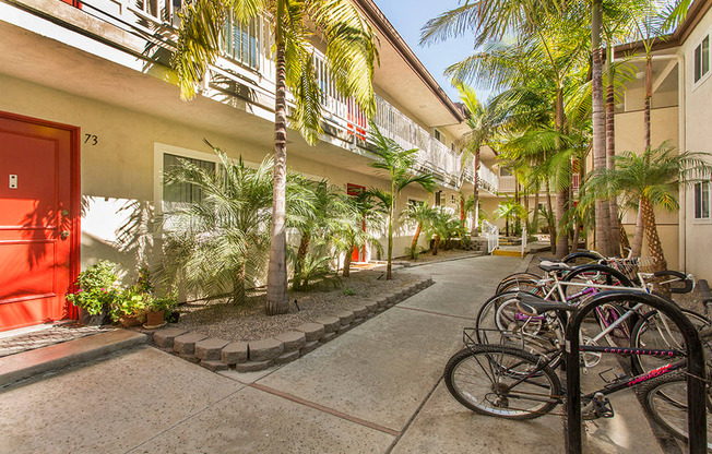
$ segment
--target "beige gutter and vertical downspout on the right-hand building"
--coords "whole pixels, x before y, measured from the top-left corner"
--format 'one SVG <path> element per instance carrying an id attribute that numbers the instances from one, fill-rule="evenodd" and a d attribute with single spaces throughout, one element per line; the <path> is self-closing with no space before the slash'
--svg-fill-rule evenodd
<path id="1" fill-rule="evenodd" d="M 686 103 L 686 93 L 685 93 L 685 57 L 679 53 L 681 49 L 678 50 L 678 53 L 671 56 L 653 56 L 653 61 L 655 60 L 677 60 L 677 144 L 680 152 L 687 150 L 686 143 L 686 128 L 685 128 L 685 103 Z M 632 60 L 644 60 L 644 57 L 630 59 Z M 616 59 L 615 61 L 622 61 L 622 59 Z M 687 189 L 679 190 L 679 206 L 680 212 L 678 214 L 678 260 L 679 266 L 683 268 L 683 273 L 687 273 Z"/>

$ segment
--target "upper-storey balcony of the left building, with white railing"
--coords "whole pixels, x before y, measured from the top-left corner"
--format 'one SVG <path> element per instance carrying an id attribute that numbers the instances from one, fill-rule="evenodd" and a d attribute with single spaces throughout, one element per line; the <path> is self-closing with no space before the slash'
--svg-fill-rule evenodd
<path id="1" fill-rule="evenodd" d="M 131 36 L 133 52 L 142 49 L 142 53 L 150 61 L 143 72 L 151 72 L 155 63 L 169 64 L 169 55 L 176 46 L 174 31 L 178 24 L 176 9 L 179 8 L 179 1 L 85 0 L 71 4 Z M 106 39 L 106 36 L 99 38 Z M 273 41 L 268 19 L 259 17 L 248 25 L 228 19 L 223 29 L 221 47 L 222 58 L 211 68 L 202 95 L 222 103 L 230 103 L 225 95 L 239 98 L 258 107 L 248 110 L 261 111 L 256 115 L 271 119 L 269 112 L 274 106 L 275 71 L 271 59 Z M 371 131 L 366 117 L 353 99 L 339 95 L 327 70 L 324 56 L 315 49 L 313 58 L 318 83 L 323 94 L 325 132 L 341 140 L 332 142 L 368 155 L 372 141 L 369 139 Z M 289 104 L 294 106 L 288 99 Z M 383 135 L 404 148 L 417 148 L 420 169 L 435 174 L 443 186 L 453 189 L 459 188 L 463 180 L 472 181 L 472 171 L 462 171 L 461 157 L 417 122 L 381 97 L 377 97 L 376 106 L 375 124 Z M 466 168 L 471 168 L 471 165 Z M 482 166 L 479 175 L 483 188 L 496 190 L 497 180 L 491 178 L 493 174 L 488 168 Z"/>

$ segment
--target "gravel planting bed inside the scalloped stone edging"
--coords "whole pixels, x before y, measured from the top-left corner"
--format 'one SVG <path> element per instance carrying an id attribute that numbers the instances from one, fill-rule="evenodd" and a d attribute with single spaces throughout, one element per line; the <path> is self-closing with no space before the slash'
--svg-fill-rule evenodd
<path id="1" fill-rule="evenodd" d="M 265 315 L 266 295 L 262 291 L 250 296 L 239 306 L 224 300 L 186 303 L 179 308 L 178 323 L 170 326 L 225 340 L 260 340 L 290 331 L 321 315 L 361 306 L 360 301 L 364 298 L 379 296 L 418 278 L 419 276 L 415 274 L 393 273 L 393 279 L 385 280 L 382 271 L 361 270 L 356 273 L 352 271 L 351 277 L 342 277 L 342 285 L 336 288 L 329 284 L 325 287 L 313 288 L 311 291 L 290 291 L 287 314 Z M 346 295 L 352 291 L 353 295 Z"/>

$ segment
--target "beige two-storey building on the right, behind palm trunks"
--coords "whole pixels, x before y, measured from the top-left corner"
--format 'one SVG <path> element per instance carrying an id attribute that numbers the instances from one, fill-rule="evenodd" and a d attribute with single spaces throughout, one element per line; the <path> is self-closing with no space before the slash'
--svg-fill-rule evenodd
<path id="1" fill-rule="evenodd" d="M 710 39 L 712 1 L 696 0 L 686 21 L 653 47 L 653 97 L 651 145 L 667 141 L 680 151 L 712 152 L 712 81 L 710 81 Z M 616 105 L 616 152 L 643 151 L 643 109 L 645 67 L 641 43 L 616 48 L 616 57 L 637 56 L 634 79 L 627 83 Z M 710 183 L 679 191 L 680 210 L 657 210 L 656 222 L 671 270 L 712 278 L 712 217 Z M 636 213 L 624 219 L 630 236 Z M 643 251 L 645 254 L 645 251 Z"/>

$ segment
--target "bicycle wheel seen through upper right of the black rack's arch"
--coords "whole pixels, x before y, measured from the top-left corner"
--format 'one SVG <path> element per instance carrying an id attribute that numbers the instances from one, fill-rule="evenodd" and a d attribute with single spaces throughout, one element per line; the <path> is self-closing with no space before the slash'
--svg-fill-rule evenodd
<path id="1" fill-rule="evenodd" d="M 710 325 L 710 320 L 697 312 L 683 309 L 683 313 L 692 322 L 699 330 Z M 703 343 L 705 358 L 710 361 L 712 351 L 710 351 L 707 343 Z M 633 348 L 652 348 L 658 350 L 676 349 L 685 351 L 685 342 L 683 334 L 666 315 L 657 312 L 650 311 L 641 316 L 633 331 L 630 333 L 630 346 Z M 631 357 L 631 366 L 636 374 L 641 374 L 666 365 L 669 358 L 657 357 L 651 355 L 633 355 Z"/>

